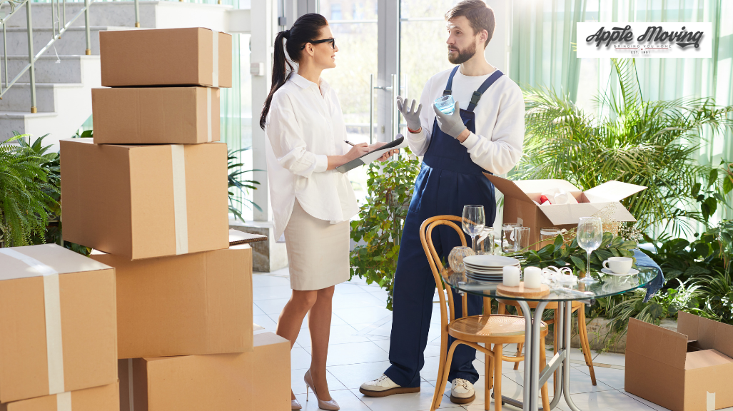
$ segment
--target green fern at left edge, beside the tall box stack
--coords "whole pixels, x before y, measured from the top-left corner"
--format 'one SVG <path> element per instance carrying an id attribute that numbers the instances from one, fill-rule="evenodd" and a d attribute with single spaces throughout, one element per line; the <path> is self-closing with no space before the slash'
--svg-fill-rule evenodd
<path id="1" fill-rule="evenodd" d="M 58 189 L 45 166 L 50 155 L 39 153 L 39 141 L 26 144 L 26 137 L 15 135 L 0 143 L 0 234 L 6 247 L 30 245 L 34 236 L 43 237 L 49 215 L 58 207 L 52 196 Z"/>

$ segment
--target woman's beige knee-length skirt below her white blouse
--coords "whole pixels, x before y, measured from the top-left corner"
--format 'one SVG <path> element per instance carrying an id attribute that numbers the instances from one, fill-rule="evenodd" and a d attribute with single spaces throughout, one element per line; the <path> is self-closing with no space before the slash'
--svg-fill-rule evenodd
<path id="1" fill-rule="evenodd" d="M 349 280 L 349 222 L 331 224 L 308 214 L 298 200 L 285 227 L 290 288 L 324 289 Z"/>

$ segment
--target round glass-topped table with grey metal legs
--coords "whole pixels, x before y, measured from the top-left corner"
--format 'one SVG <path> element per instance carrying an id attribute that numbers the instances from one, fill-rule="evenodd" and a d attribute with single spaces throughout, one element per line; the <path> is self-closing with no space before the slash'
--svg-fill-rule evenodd
<path id="1" fill-rule="evenodd" d="M 463 273 L 452 273 L 450 270 L 443 275 L 446 284 L 457 292 L 468 292 L 469 294 L 480 295 L 489 298 L 501 298 L 502 300 L 515 300 L 522 308 L 525 319 L 525 357 L 524 357 L 524 389 L 523 401 L 517 401 L 501 396 L 502 404 L 507 403 L 524 411 L 538 411 L 537 399 L 539 389 L 548 381 L 550 375 L 556 370 L 561 375 L 560 381 L 555 382 L 555 395 L 550 402 L 550 409 L 554 408 L 564 396 L 567 405 L 572 411 L 581 411 L 570 398 L 570 329 L 572 319 L 572 302 L 583 301 L 588 304 L 592 300 L 624 292 L 645 286 L 657 275 L 657 270 L 651 267 L 638 267 L 639 273 L 619 277 L 616 275 L 600 274 L 600 281 L 594 284 L 578 282 L 573 286 L 550 286 L 550 294 L 544 297 L 515 297 L 502 295 L 497 292 L 498 284 L 482 283 L 467 278 Z M 534 316 L 530 311 L 529 302 L 537 303 L 534 308 Z M 539 369 L 539 338 L 542 312 L 550 302 L 558 303 L 558 316 L 555 327 L 558 327 L 558 352 L 551 358 L 544 369 Z M 493 394 L 492 394 L 493 396 Z M 496 401 L 496 399 L 495 399 Z"/>

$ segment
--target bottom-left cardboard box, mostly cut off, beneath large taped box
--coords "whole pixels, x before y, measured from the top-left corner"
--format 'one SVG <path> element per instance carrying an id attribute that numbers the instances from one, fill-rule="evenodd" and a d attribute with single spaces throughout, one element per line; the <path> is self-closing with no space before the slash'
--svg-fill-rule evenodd
<path id="1" fill-rule="evenodd" d="M 0 404 L 0 411 L 119 411 L 119 384 Z"/>

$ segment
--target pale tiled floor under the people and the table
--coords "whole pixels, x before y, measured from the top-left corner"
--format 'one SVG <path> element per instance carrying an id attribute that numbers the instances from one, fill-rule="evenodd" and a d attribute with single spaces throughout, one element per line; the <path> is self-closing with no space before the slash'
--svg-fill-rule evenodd
<path id="1" fill-rule="evenodd" d="M 287 268 L 274 273 L 254 275 L 254 322 L 275 331 L 278 316 L 290 297 L 290 280 Z M 328 348 L 328 388 L 342 410 L 355 411 L 422 411 L 430 410 L 430 401 L 435 390 L 440 355 L 440 312 L 433 310 L 429 342 L 425 350 L 425 366 L 420 372 L 422 385 L 420 393 L 402 394 L 384 398 L 369 398 L 359 393 L 362 382 L 379 377 L 389 366 L 389 336 L 391 311 L 385 307 L 386 293 L 378 286 L 369 286 L 360 278 L 336 286 L 334 295 L 334 316 L 331 325 L 331 345 Z M 292 390 L 303 410 L 317 410 L 316 401 L 306 402 L 306 385 L 303 375 L 310 366 L 310 336 L 308 323 L 303 322 L 301 334 L 292 348 Z M 507 346 L 511 352 L 515 346 Z M 593 353 L 596 363 L 597 385 L 592 385 L 583 355 L 572 352 L 570 372 L 572 400 L 582 411 L 664 411 L 662 407 L 640 399 L 624 391 L 624 355 Z M 441 409 L 484 410 L 484 357 L 478 355 L 476 369 L 481 378 L 476 383 L 476 399 L 462 406 L 453 404 L 443 396 Z M 515 399 L 522 398 L 523 366 L 512 369 L 512 363 L 503 364 L 504 379 L 502 394 Z M 449 393 L 450 385 L 446 388 Z M 550 379 L 550 393 L 552 382 Z M 491 400 L 493 402 L 493 400 Z M 509 405 L 505 410 L 517 410 Z M 493 410 L 493 405 L 492 405 Z M 557 410 L 570 411 L 563 400 Z M 733 411 L 733 408 L 728 409 Z"/>

